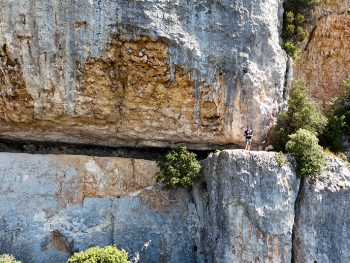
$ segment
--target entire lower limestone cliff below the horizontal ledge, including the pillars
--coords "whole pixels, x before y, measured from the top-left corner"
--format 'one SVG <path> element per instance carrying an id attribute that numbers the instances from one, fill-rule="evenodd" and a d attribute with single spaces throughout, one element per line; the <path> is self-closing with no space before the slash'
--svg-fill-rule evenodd
<path id="1" fill-rule="evenodd" d="M 339 160 L 300 190 L 292 163 L 266 152 L 211 155 L 191 194 L 155 187 L 155 171 L 145 160 L 1 153 L 0 253 L 64 263 L 114 243 L 140 262 L 349 261 L 350 172 Z"/>

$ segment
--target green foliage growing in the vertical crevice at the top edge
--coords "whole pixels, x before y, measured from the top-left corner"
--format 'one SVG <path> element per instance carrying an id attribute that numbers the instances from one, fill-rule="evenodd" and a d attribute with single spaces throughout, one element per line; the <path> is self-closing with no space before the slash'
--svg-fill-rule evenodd
<path id="1" fill-rule="evenodd" d="M 299 55 L 298 44 L 303 42 L 308 33 L 305 31 L 305 17 L 321 0 L 287 0 L 284 3 L 283 48 L 292 58 Z"/>

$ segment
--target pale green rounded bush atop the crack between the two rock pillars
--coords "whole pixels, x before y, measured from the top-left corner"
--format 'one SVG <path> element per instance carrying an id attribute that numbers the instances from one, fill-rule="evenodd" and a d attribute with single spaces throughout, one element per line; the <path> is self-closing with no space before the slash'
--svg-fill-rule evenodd
<path id="1" fill-rule="evenodd" d="M 316 135 L 307 130 L 299 129 L 289 137 L 286 150 L 297 161 L 298 175 L 319 174 L 325 166 L 325 153 L 323 148 L 318 145 Z"/>

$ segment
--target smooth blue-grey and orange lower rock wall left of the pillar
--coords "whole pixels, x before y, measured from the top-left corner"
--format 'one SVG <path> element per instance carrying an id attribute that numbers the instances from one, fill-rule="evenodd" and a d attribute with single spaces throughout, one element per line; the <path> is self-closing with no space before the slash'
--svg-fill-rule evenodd
<path id="1" fill-rule="evenodd" d="M 144 160 L 1 153 L 0 254 L 63 263 L 115 243 L 142 262 L 196 262 L 191 197 L 153 188 L 155 171 Z"/>

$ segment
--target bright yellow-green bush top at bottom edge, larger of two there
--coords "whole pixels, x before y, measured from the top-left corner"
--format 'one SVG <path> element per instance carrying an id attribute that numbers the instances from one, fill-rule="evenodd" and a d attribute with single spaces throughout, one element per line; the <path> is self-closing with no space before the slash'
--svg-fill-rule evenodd
<path id="1" fill-rule="evenodd" d="M 67 263 L 130 263 L 128 253 L 115 246 L 92 247 L 75 253 Z"/>

